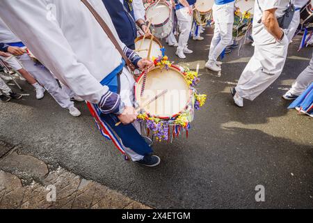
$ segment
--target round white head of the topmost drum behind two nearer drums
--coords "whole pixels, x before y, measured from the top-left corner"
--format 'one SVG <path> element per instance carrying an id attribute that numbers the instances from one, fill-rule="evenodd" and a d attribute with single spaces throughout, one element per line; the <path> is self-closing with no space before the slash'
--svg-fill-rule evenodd
<path id="1" fill-rule="evenodd" d="M 163 24 L 170 17 L 170 7 L 166 3 L 152 3 L 145 11 L 147 20 L 152 18 L 152 25 Z"/>

